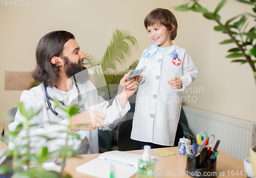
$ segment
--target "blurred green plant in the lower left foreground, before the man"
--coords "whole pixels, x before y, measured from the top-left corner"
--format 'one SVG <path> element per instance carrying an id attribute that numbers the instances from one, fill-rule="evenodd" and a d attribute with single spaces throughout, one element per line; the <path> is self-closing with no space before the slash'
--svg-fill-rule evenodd
<path id="1" fill-rule="evenodd" d="M 36 126 L 36 124 L 31 124 L 30 119 L 37 115 L 41 109 L 34 112 L 33 109 L 25 109 L 25 106 L 23 103 L 19 104 L 19 110 L 20 113 L 25 117 L 23 122 L 21 122 L 15 131 L 9 131 L 8 134 L 12 136 L 12 141 L 15 144 L 15 147 L 13 150 L 6 150 L 4 152 L 3 156 L 7 156 L 10 161 L 8 161 L 6 164 L 2 164 L 0 166 L 0 177 L 35 177 L 35 178 L 58 178 L 58 177 L 65 177 L 69 178 L 71 177 L 68 174 L 64 174 L 63 167 L 65 166 L 65 161 L 67 157 L 75 157 L 76 152 L 74 149 L 68 146 L 68 138 L 72 136 L 72 138 L 79 138 L 79 135 L 70 132 L 71 125 L 70 124 L 70 118 L 71 116 L 75 115 L 79 111 L 79 106 L 67 106 L 67 107 L 61 107 L 58 100 L 54 99 L 54 102 L 56 103 L 56 107 L 60 108 L 61 110 L 65 111 L 67 113 L 67 119 L 68 119 L 68 127 L 66 131 L 67 138 L 66 138 L 66 145 L 61 147 L 59 150 L 54 152 L 49 152 L 48 148 L 46 146 L 38 146 L 36 149 L 31 147 L 31 140 L 35 140 L 35 138 L 43 138 L 46 139 L 47 142 L 56 139 L 55 137 L 47 137 L 45 135 L 30 135 L 26 134 L 20 137 L 21 132 L 29 133 L 29 130 Z M 18 138 L 18 139 L 17 139 Z M 7 139 L 4 137 L 1 138 L 4 142 L 8 142 Z M 19 144 L 19 141 L 17 140 L 25 140 L 24 144 Z M 33 151 L 32 151 L 33 150 Z M 3 157 L 2 156 L 2 157 Z M 59 171 L 53 171 L 53 170 L 45 170 L 43 165 L 49 163 L 48 160 L 51 160 L 53 158 L 60 158 L 62 157 L 63 160 L 61 162 L 58 162 L 56 167 L 60 169 Z M 57 160 L 56 160 L 57 161 Z M 52 166 L 52 165 L 51 165 Z"/>

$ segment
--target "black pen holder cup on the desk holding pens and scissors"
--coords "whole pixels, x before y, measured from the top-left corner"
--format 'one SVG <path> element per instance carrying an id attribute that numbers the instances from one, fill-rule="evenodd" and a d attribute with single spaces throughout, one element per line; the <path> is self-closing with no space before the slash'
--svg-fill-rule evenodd
<path id="1" fill-rule="evenodd" d="M 204 155 L 199 156 L 187 155 L 186 173 L 191 177 L 208 177 L 216 178 L 216 159 L 207 159 Z M 200 163 L 200 159 L 205 157 L 204 161 Z"/>

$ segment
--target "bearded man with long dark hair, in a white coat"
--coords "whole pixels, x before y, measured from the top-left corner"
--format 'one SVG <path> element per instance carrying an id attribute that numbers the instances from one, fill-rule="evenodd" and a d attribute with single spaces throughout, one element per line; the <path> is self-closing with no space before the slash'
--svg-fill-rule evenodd
<path id="1" fill-rule="evenodd" d="M 9 149 L 14 149 L 15 145 L 25 144 L 27 140 L 22 138 L 27 134 L 32 138 L 32 150 L 47 146 L 48 151 L 52 152 L 66 144 L 65 131 L 69 123 L 66 113 L 55 107 L 55 102 L 49 99 L 55 98 L 63 102 L 63 107 L 81 103 L 82 100 L 83 105 L 79 114 L 71 117 L 70 132 L 80 133 L 87 144 L 78 144 L 75 139 L 69 137 L 68 146 L 76 146 L 74 149 L 77 149 L 77 154 L 98 153 L 98 129 L 111 131 L 115 128 L 130 110 L 127 98 L 136 91 L 137 85 L 134 79 L 126 80 L 131 71 L 126 73 L 120 81 L 119 94 L 114 98 L 112 106 L 108 107 L 109 102 L 98 96 L 97 89 L 89 81 L 88 71 L 83 66 L 85 58 L 87 56 L 80 50 L 74 35 L 70 32 L 54 31 L 40 39 L 36 47 L 36 69 L 32 77 L 36 82 L 42 83 L 29 91 L 23 91 L 20 103 L 24 104 L 26 110 L 41 110 L 30 119 L 29 123 L 34 126 L 31 126 L 29 132 L 23 129 L 16 138 L 10 136 Z M 77 73 L 80 73 L 80 77 L 76 76 Z M 25 120 L 18 109 L 14 122 L 9 124 L 9 131 L 15 131 Z M 37 137 L 38 135 L 56 139 L 47 141 L 45 138 Z"/>

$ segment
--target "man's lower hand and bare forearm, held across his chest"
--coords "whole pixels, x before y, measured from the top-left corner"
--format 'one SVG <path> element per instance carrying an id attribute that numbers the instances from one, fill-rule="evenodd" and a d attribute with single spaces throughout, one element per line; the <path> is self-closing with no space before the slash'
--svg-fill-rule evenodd
<path id="1" fill-rule="evenodd" d="M 76 129 L 95 130 L 104 123 L 106 115 L 96 110 L 88 110 L 71 117 L 71 131 Z"/>

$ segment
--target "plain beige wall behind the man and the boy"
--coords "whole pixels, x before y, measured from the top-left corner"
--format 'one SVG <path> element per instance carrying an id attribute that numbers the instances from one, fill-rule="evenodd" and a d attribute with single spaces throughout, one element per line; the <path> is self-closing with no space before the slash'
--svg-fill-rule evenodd
<path id="1" fill-rule="evenodd" d="M 128 30 L 138 43 L 131 46 L 131 52 L 116 71 L 127 68 L 134 60 L 140 59 L 143 49 L 151 45 L 144 29 L 143 20 L 155 8 L 166 8 L 174 12 L 178 20 L 176 44 L 186 48 L 198 68 L 198 78 L 192 85 L 197 101 L 185 104 L 220 114 L 255 121 L 256 85 L 248 64 L 230 63 L 227 50 L 232 45 L 218 44 L 227 35 L 213 30 L 216 23 L 205 19 L 200 13 L 177 12 L 173 9 L 185 1 L 174 0 L 28 0 L 28 6 L 2 6 L 1 22 L 1 75 L 0 113 L 8 113 L 15 107 L 22 91 L 5 91 L 5 71 L 32 71 L 35 67 L 35 48 L 39 39 L 55 30 L 66 30 L 76 37 L 84 53 L 101 59 L 112 33 L 117 28 Z M 210 10 L 218 1 L 200 1 Z M 225 20 L 239 12 L 251 10 L 251 6 L 229 0 L 221 9 Z M 193 93 L 203 87 L 204 92 Z M 189 90 L 190 91 L 190 90 Z M 1 116 L 0 122 L 6 122 Z M 6 128 L 7 129 L 7 128 Z"/>

